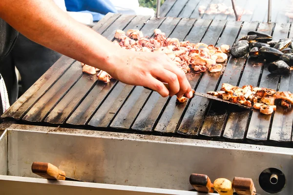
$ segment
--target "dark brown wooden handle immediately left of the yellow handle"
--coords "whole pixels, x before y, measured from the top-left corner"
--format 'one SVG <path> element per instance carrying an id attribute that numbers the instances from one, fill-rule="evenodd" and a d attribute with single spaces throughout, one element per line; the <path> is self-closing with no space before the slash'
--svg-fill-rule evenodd
<path id="1" fill-rule="evenodd" d="M 207 175 L 191 174 L 189 182 L 197 192 L 213 193 L 213 185 Z"/>

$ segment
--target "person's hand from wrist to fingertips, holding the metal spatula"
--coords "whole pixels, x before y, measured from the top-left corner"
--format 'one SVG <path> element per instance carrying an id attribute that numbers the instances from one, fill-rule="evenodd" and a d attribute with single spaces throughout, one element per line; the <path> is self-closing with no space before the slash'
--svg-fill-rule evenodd
<path id="1" fill-rule="evenodd" d="M 120 52 L 114 57 L 115 68 L 107 70 L 113 78 L 127 84 L 148 87 L 163 97 L 176 95 L 181 98 L 185 95 L 192 98 L 185 73 L 167 55 L 125 49 Z M 168 83 L 169 91 L 162 82 Z"/>

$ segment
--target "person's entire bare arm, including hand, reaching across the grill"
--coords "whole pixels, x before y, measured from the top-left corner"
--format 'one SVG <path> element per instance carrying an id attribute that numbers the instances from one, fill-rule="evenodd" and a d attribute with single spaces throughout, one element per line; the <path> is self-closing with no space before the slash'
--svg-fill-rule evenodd
<path id="1" fill-rule="evenodd" d="M 167 55 L 122 49 L 72 19 L 52 0 L 0 0 L 0 18 L 28 39 L 126 84 L 148 87 L 163 97 L 192 97 L 184 72 Z M 161 81 L 169 84 L 169 91 Z"/>

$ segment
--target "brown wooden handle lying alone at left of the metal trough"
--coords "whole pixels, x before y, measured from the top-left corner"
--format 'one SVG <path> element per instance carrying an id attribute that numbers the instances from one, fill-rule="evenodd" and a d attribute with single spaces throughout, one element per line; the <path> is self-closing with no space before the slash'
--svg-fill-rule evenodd
<path id="1" fill-rule="evenodd" d="M 34 162 L 32 172 L 47 179 L 65 180 L 65 172 L 47 162 Z"/>

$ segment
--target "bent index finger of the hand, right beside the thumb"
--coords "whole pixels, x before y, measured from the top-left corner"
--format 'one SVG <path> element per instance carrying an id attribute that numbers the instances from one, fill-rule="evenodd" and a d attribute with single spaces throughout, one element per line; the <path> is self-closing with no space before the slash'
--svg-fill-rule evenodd
<path id="1" fill-rule="evenodd" d="M 176 74 L 164 68 L 155 69 L 151 74 L 154 78 L 168 83 L 169 96 L 174 96 L 180 91 L 180 84 Z"/>

